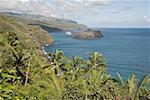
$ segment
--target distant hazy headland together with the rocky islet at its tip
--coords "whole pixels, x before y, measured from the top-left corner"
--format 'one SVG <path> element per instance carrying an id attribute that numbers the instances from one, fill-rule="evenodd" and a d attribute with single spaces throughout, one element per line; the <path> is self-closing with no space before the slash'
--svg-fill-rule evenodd
<path id="1" fill-rule="evenodd" d="M 27 25 L 36 25 L 42 28 L 47 27 L 47 29 L 70 31 L 72 33 L 72 38 L 95 39 L 103 36 L 100 30 L 93 31 L 86 25 L 78 24 L 77 22 L 68 19 L 45 17 L 42 15 L 18 14 L 13 12 L 3 12 L 0 14 L 12 17 L 15 20 L 23 22 Z"/>

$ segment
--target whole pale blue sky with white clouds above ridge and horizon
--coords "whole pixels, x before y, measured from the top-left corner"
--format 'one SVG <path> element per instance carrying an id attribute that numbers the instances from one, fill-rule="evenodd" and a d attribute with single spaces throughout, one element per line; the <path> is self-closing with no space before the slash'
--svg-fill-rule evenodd
<path id="1" fill-rule="evenodd" d="M 150 0 L 0 0 L 0 12 L 66 18 L 89 27 L 150 28 Z"/>

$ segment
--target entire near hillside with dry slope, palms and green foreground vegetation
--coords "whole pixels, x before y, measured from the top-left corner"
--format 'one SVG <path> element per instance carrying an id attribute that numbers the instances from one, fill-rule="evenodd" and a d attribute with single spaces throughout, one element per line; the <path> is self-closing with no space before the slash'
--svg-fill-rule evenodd
<path id="1" fill-rule="evenodd" d="M 106 59 L 93 52 L 87 59 L 62 51 L 43 55 L 53 39 L 39 26 L 0 15 L 0 100 L 149 100 L 150 77 L 114 79 Z"/>

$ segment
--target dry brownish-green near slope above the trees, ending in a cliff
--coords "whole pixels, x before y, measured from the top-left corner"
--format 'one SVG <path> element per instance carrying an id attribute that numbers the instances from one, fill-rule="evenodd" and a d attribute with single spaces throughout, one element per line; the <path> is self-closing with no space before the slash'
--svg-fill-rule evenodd
<path id="1" fill-rule="evenodd" d="M 21 21 L 16 20 L 13 17 L 5 16 L 0 14 L 0 30 L 2 32 L 13 31 L 22 40 L 32 40 L 38 45 L 50 44 L 53 42 L 51 36 L 48 35 L 47 31 L 43 30 L 39 26 L 28 25 Z"/>

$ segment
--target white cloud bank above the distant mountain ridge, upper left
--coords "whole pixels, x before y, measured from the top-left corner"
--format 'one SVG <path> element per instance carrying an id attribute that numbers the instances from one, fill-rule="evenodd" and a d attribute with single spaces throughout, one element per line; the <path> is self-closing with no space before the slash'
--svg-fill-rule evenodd
<path id="1" fill-rule="evenodd" d="M 76 19 L 109 4 L 110 0 L 0 0 L 0 9 Z"/>

